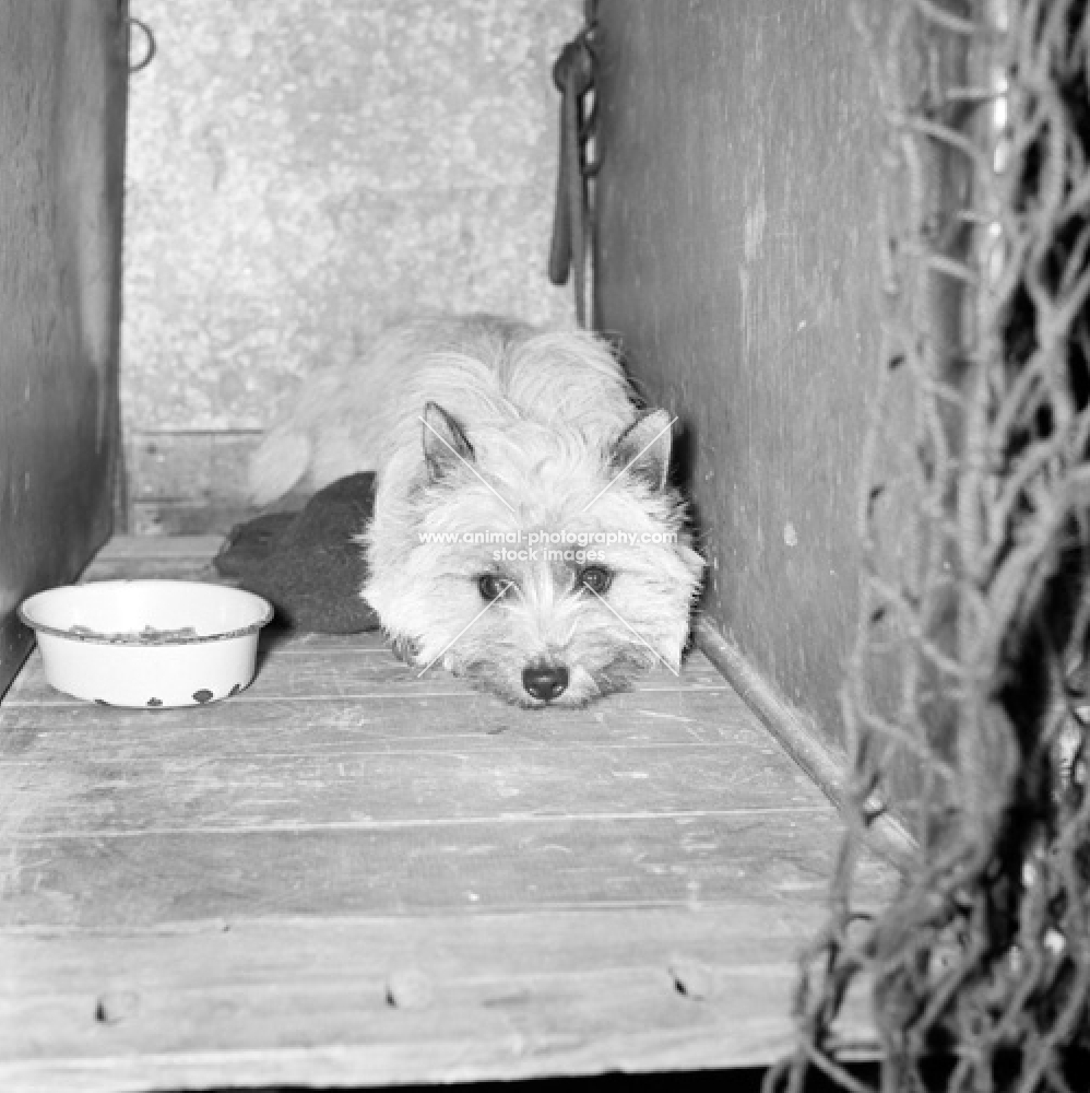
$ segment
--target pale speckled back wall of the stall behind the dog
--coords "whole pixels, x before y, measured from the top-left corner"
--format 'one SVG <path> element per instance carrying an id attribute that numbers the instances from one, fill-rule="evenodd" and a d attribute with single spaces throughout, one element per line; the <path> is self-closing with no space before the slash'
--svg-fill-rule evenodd
<path id="1" fill-rule="evenodd" d="M 133 0 L 122 407 L 135 530 L 238 516 L 312 365 L 419 307 L 570 321 L 545 279 L 582 0 Z M 134 44 L 135 45 L 135 44 Z"/>

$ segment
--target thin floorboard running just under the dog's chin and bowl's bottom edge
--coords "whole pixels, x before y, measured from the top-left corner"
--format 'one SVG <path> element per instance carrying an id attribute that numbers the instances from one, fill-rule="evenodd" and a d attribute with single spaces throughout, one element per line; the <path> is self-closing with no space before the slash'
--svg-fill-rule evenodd
<path id="1" fill-rule="evenodd" d="M 702 697 L 711 707 L 716 695 L 709 692 Z M 689 747 L 700 750 L 716 744 L 760 754 L 781 773 L 785 787 L 805 791 L 811 802 L 822 800 L 759 728 L 730 709 L 720 720 L 692 716 L 698 710 L 690 705 L 686 715 L 667 717 L 661 709 L 652 709 L 643 710 L 642 716 L 639 712 L 603 716 L 589 727 L 578 710 L 538 715 L 508 709 L 488 698 L 458 701 L 467 712 L 461 724 L 449 717 L 453 700 L 442 695 L 415 702 L 379 697 L 367 703 L 366 713 L 356 701 L 273 700 L 244 705 L 232 700 L 217 707 L 188 710 L 110 710 L 112 722 L 102 713 L 92 716 L 86 706 L 13 705 L 0 709 L 0 777 L 5 784 L 20 777 L 15 765 L 20 763 L 67 766 L 91 759 L 120 768 L 193 756 L 273 761 L 277 756 L 343 759 L 382 752 L 471 755 L 497 748 L 518 749 L 523 754 L 609 750 L 623 755 L 626 749 L 638 754 L 655 747 L 673 748 L 680 754 Z M 316 705 L 321 709 L 320 718 Z M 437 708 L 446 716 L 437 717 Z M 190 716 L 185 716 L 190 710 Z M 239 710 L 252 716 L 244 719 Z M 653 716 L 645 716 L 649 713 Z"/>

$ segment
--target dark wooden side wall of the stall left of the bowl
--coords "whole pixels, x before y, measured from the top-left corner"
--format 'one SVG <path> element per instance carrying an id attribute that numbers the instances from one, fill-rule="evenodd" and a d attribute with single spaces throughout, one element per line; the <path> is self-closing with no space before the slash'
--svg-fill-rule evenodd
<path id="1" fill-rule="evenodd" d="M 110 529 L 125 0 L 0 0 L 0 693 Z"/>

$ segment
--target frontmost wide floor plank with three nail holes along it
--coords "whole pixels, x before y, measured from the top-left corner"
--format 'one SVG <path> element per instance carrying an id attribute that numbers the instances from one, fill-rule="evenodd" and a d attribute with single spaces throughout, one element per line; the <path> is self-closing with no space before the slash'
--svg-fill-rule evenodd
<path id="1" fill-rule="evenodd" d="M 725 904 L 203 921 L 97 933 L 90 951 L 66 932 L 0 936 L 0 961 L 16 969 L 0 1025 L 20 1030 L 0 1084 L 371 1085 L 594 1073 L 637 1058 L 662 1070 L 759 1063 L 789 1045 L 792 961 L 811 920 Z M 857 1004 L 849 1014 L 863 1032 Z"/>

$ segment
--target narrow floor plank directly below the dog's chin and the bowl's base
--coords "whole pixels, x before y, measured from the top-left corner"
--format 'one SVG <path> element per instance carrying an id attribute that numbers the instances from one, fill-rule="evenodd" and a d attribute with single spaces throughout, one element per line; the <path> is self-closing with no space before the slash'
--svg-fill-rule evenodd
<path id="1" fill-rule="evenodd" d="M 525 710 L 489 695 L 376 692 L 366 698 L 260 697 L 183 709 L 103 708 L 16 697 L 0 708 L 0 756 L 67 761 L 87 749 L 125 759 L 380 749 L 472 749 L 508 736 L 523 747 L 755 744 L 778 753 L 730 692 L 614 695 L 587 710 Z M 19 684 L 16 684 L 19 687 Z M 245 694 L 246 692 L 244 692 Z M 795 769 L 787 764 L 784 769 Z M 799 772 L 801 773 L 801 772 Z"/>

